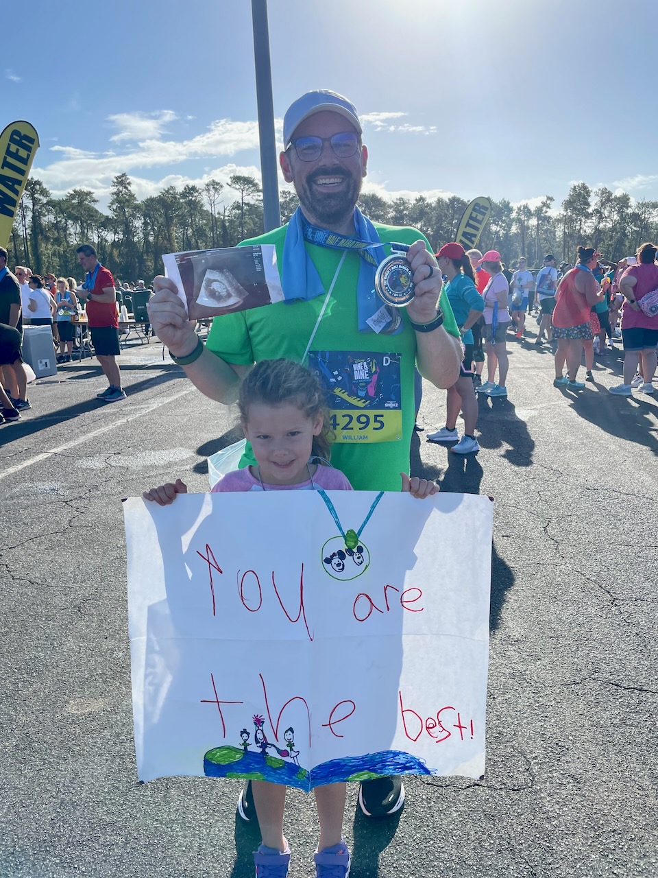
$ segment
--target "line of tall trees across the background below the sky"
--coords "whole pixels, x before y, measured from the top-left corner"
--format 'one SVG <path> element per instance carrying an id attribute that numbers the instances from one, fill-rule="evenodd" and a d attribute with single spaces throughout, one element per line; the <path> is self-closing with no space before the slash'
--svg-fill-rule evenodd
<path id="1" fill-rule="evenodd" d="M 298 200 L 294 192 L 280 192 L 282 221 L 287 222 Z M 97 208 L 89 189 L 74 189 L 53 198 L 36 177 L 25 185 L 9 245 L 10 264 L 32 271 L 76 277 L 80 266 L 75 247 L 92 243 L 102 262 L 121 280 L 149 280 L 162 271 L 161 255 L 184 250 L 234 247 L 263 231 L 261 185 L 253 176 L 235 174 L 226 185 L 210 180 L 204 186 L 174 186 L 139 200 L 130 177 L 119 174 L 111 185 L 109 212 Z M 634 253 L 643 241 L 658 239 L 658 201 L 633 204 L 626 192 L 595 191 L 584 183 L 571 186 L 552 211 L 547 195 L 534 208 L 514 207 L 506 198 L 491 201 L 490 221 L 478 248 L 497 249 L 507 264 L 525 255 L 531 267 L 553 253 L 558 261 L 573 263 L 576 247 L 596 247 L 612 262 Z M 435 249 L 454 236 L 467 205 L 464 198 L 396 198 L 361 193 L 361 210 L 375 221 L 420 229 Z"/>

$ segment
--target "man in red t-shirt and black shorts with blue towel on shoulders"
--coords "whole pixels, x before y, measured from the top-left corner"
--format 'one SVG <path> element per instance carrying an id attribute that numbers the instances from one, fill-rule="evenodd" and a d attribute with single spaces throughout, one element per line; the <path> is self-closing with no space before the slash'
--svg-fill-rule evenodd
<path id="1" fill-rule="evenodd" d="M 118 402 L 119 399 L 125 399 L 125 392 L 121 386 L 117 363 L 121 350 L 118 343 L 117 293 L 114 289 L 114 277 L 110 270 L 98 262 L 96 250 L 90 244 L 82 244 L 75 253 L 78 262 L 87 272 L 84 284 L 75 292 L 83 302 L 86 302 L 91 343 L 105 378 L 110 383 L 106 390 L 96 395 L 104 402 Z"/>

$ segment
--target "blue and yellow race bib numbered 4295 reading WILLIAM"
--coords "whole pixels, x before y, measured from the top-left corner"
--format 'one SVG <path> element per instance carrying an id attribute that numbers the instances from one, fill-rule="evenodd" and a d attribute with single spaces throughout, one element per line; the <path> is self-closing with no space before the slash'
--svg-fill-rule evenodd
<path id="1" fill-rule="evenodd" d="M 399 354 L 311 351 L 309 368 L 325 388 L 337 443 L 402 439 Z"/>

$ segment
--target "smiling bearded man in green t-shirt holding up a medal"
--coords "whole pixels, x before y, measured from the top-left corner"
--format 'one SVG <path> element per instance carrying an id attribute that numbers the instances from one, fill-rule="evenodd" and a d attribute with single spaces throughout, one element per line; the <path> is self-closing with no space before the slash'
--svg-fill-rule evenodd
<path id="1" fill-rule="evenodd" d="M 337 435 L 332 463 L 358 490 L 399 491 L 399 473 L 409 470 L 414 364 L 441 388 L 454 385 L 460 373 L 459 330 L 447 299 L 438 308 L 440 271 L 416 229 L 371 226 L 356 211 L 368 149 L 347 98 L 307 92 L 286 112 L 283 140 L 283 177 L 294 184 L 301 206 L 287 226 L 243 243 L 275 244 L 286 301 L 216 318 L 204 348 L 175 284 L 156 277 L 151 323 L 199 390 L 220 402 L 236 398 L 240 378 L 254 362 L 285 356 L 310 363 L 331 400 Z M 318 244 L 319 229 L 333 233 L 333 241 L 342 239 L 344 248 Z M 384 256 L 390 250 L 377 247 L 380 241 L 411 245 L 406 258 L 416 289 L 408 307 L 387 311 L 376 298 L 375 267 L 349 248 L 354 238 L 373 242 Z M 249 452 L 241 464 L 253 462 Z M 403 802 L 399 778 L 361 785 L 359 803 L 368 816 L 393 813 Z M 246 794 L 239 810 L 244 814 L 248 805 Z"/>

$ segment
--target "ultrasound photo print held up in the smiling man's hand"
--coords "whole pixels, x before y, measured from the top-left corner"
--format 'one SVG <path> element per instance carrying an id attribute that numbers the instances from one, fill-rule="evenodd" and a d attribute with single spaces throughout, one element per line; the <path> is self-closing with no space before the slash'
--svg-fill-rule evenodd
<path id="1" fill-rule="evenodd" d="M 162 262 L 190 320 L 283 300 L 274 244 L 167 253 Z"/>

